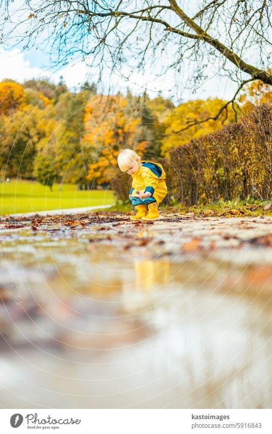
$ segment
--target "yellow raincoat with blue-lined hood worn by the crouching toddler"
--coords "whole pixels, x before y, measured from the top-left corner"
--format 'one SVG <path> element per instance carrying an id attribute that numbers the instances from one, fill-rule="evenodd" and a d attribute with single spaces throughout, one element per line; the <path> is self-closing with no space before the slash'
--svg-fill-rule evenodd
<path id="1" fill-rule="evenodd" d="M 151 161 L 142 161 L 137 173 L 132 175 L 130 194 L 133 193 L 134 189 L 143 190 L 144 193 L 150 192 L 159 205 L 167 193 L 165 172 L 162 165 Z"/>

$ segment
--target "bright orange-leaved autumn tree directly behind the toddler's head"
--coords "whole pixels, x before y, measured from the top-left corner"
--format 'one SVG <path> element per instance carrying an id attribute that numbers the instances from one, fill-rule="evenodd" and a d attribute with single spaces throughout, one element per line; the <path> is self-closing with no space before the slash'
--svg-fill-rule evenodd
<path id="1" fill-rule="evenodd" d="M 132 115 L 122 95 L 95 96 L 85 109 L 84 147 L 90 164 L 87 178 L 97 184 L 107 184 L 119 173 L 117 155 L 121 148 L 133 148 L 143 153 L 146 142 L 138 139 L 136 130 L 140 118 Z"/>

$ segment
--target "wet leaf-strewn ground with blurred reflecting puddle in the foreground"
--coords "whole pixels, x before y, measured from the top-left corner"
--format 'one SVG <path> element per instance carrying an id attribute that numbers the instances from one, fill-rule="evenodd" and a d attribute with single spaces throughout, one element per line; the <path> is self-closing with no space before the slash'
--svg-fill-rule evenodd
<path id="1" fill-rule="evenodd" d="M 0 404 L 270 408 L 272 218 L 0 222 Z"/>

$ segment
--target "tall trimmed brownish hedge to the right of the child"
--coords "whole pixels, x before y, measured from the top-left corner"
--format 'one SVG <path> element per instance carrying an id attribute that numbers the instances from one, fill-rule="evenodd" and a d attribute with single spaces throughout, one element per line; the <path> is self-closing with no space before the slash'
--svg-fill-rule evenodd
<path id="1" fill-rule="evenodd" d="M 170 195 L 186 204 L 270 199 L 271 120 L 271 104 L 261 104 L 239 123 L 172 148 L 167 170 Z"/>

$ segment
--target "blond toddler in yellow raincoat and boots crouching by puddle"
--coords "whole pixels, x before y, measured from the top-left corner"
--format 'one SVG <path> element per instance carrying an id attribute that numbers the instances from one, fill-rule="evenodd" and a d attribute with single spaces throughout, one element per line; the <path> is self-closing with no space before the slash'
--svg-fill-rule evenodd
<path id="1" fill-rule="evenodd" d="M 118 166 L 132 176 L 129 198 L 137 214 L 132 220 L 155 220 L 159 218 L 158 206 L 166 196 L 165 172 L 162 165 L 141 158 L 131 149 L 118 154 Z"/>

